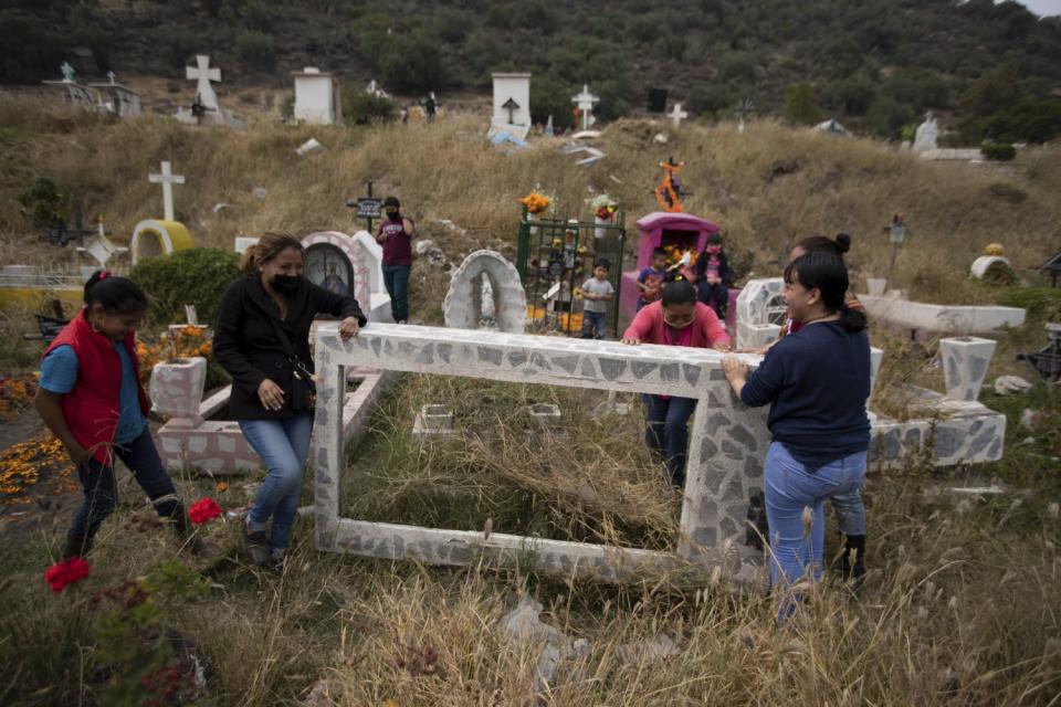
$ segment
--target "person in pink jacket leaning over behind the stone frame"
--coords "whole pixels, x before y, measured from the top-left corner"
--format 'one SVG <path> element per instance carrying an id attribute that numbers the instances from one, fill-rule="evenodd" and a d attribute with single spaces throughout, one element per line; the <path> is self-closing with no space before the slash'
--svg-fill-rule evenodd
<path id="1" fill-rule="evenodd" d="M 684 279 L 663 286 L 663 298 L 641 309 L 622 335 L 622 342 L 661 344 L 729 350 L 729 336 L 714 309 L 696 302 L 696 291 Z M 696 410 L 692 398 L 644 395 L 645 443 L 663 454 L 671 483 L 685 485 L 689 419 Z"/>

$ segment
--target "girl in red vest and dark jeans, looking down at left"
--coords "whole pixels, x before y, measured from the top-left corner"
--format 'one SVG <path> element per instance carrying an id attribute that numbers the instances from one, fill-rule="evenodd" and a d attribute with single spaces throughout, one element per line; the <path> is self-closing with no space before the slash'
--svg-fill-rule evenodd
<path id="1" fill-rule="evenodd" d="M 101 524 L 114 511 L 115 455 L 189 549 L 208 550 L 191 534 L 183 504 L 147 428 L 151 405 L 140 384 L 135 341 L 135 327 L 146 313 L 143 289 L 125 277 L 98 271 L 85 284 L 85 307 L 60 331 L 41 361 L 36 410 L 77 465 L 85 492 L 66 536 L 64 559 L 87 555 Z"/>

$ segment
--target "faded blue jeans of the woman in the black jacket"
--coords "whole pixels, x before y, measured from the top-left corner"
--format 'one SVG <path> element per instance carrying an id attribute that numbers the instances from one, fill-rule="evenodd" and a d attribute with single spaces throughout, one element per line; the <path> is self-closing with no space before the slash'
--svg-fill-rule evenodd
<path id="1" fill-rule="evenodd" d="M 298 502 L 302 498 L 302 471 L 309 456 L 313 415 L 300 414 L 288 420 L 240 420 L 243 436 L 265 462 L 265 481 L 254 497 L 246 518 L 251 532 L 264 532 L 273 519 L 270 545 L 274 550 L 291 544 Z"/>

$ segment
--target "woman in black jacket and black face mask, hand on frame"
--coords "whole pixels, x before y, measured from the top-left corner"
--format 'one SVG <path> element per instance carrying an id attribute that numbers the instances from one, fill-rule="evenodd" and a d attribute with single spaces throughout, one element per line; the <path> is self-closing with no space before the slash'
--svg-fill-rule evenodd
<path id="1" fill-rule="evenodd" d="M 309 325 L 342 317 L 339 335 L 357 336 L 366 318 L 357 300 L 302 276 L 303 247 L 290 233 L 265 233 L 243 255 L 245 277 L 221 297 L 213 355 L 232 377 L 229 409 L 265 462 L 267 475 L 246 518 L 246 549 L 256 564 L 283 561 L 302 494 L 313 430 Z M 269 519 L 272 536 L 266 537 Z"/>

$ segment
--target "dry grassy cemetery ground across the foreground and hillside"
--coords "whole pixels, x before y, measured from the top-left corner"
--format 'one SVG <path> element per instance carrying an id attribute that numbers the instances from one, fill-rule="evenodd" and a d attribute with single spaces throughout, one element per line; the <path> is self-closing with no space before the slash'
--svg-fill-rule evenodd
<path id="1" fill-rule="evenodd" d="M 232 163 L 228 169 L 242 170 L 277 194 L 264 204 L 250 197 L 238 202 L 232 213 L 218 215 L 211 232 L 232 231 L 228 226 L 234 221 L 229 219 L 242 219 L 241 228 L 249 233 L 266 224 L 300 229 L 314 209 L 332 214 L 330 225 L 349 228 L 342 205 L 336 207 L 346 196 L 342 190 L 322 196 L 306 188 L 305 198 L 284 196 L 284 179 L 293 191 L 314 180 L 301 168 L 285 168 L 277 157 L 281 148 L 287 150 L 309 136 L 302 128 L 255 128 L 249 134 L 254 144 L 242 146 L 220 131 L 204 134 L 204 144 L 193 144 L 183 134 L 158 129 L 147 120 L 85 125 L 45 115 L 41 123 L 43 127 L 34 129 L 114 147 L 113 152 L 92 151 L 104 162 L 92 179 L 114 190 L 118 224 L 135 222 L 135 204 L 157 200 L 147 196 L 146 179 L 139 180 L 143 186 L 118 188 L 124 183 L 119 171 L 132 161 L 130 155 L 154 157 L 166 146 L 197 165 L 200 183 L 188 179 L 192 194 L 222 192 L 225 175 L 209 176 L 211 165 L 214 171 L 224 171 L 211 162 L 211 151 L 227 156 Z M 20 124 L 11 125 L 17 131 Z M 322 158 L 330 160 L 326 163 L 332 168 L 359 173 L 372 160 L 408 149 L 410 140 L 398 129 L 326 131 L 338 147 Z M 504 239 L 494 243 L 489 234 L 514 233 L 513 199 L 525 192 L 527 173 L 543 180 L 555 175 L 556 189 L 572 202 L 585 191 L 586 172 L 553 151 L 508 158 L 462 149 L 460 143 L 472 127 L 459 123 L 435 134 L 410 129 L 421 130 L 416 137 L 427 147 L 423 155 L 410 150 L 405 156 L 400 175 L 405 200 L 414 203 L 410 194 L 422 194 L 423 202 L 435 190 L 439 197 L 431 209 L 438 218 L 475 224 L 451 241 L 444 230 L 424 225 L 426 235 L 452 254 L 476 245 L 506 247 Z M 629 122 L 611 129 L 614 163 L 637 163 L 634 152 L 645 139 L 643 126 Z M 750 234 L 801 232 L 789 229 L 788 219 L 811 220 L 815 209 L 850 213 L 862 224 L 861 231 L 852 230 L 869 233 L 876 225 L 873 214 L 886 213 L 883 204 L 896 193 L 908 202 L 934 202 L 934 209 L 922 205 L 924 249 L 904 252 L 900 260 L 912 296 L 1022 302 L 1029 307 L 1029 321 L 999 337 L 988 381 L 1004 373 L 1033 378 L 1015 356 L 1041 346 L 1043 324 L 1061 318 L 1061 299 L 1041 288 L 968 283 L 965 260 L 954 255 L 955 245 L 942 238 L 952 228 L 975 228 L 968 245 L 971 260 L 983 238 L 1002 231 L 999 217 L 977 203 L 989 188 L 988 178 L 974 175 L 959 190 L 939 170 L 906 165 L 901 161 L 905 158 L 872 144 L 853 141 L 841 154 L 823 141 L 828 138 L 773 124 L 749 130 L 756 140 L 750 152 L 736 143 L 732 128 L 694 126 L 690 133 L 707 145 L 697 159 L 710 160 L 713 171 L 690 169 L 685 176 L 701 192 L 721 194 L 702 203 L 701 210 L 721 212 L 718 220 L 733 224 L 735 241 L 750 244 L 746 247 L 764 271 L 781 243 L 760 243 Z M 683 134 L 680 143 L 690 154 L 696 149 L 692 135 Z M 48 158 L 56 169 L 88 178 L 82 163 L 35 138 L 11 139 L 30 140 L 23 149 L 36 159 Z M 274 149 L 273 144 L 281 147 Z M 801 167 L 790 177 L 773 178 L 781 183 L 770 191 L 760 182 L 769 183 L 771 166 L 781 155 L 800 160 Z M 63 159 L 72 161 L 64 165 Z M 899 168 L 902 173 L 893 175 Z M 648 166 L 637 169 L 641 173 L 617 176 L 651 183 Z M 1057 167 L 1053 170 L 1044 178 L 1052 181 L 1025 187 L 1033 196 L 1031 205 L 1004 210 L 1007 218 L 1020 220 L 1005 224 L 1015 243 L 1043 239 L 1048 232 L 1044 223 L 1055 207 L 1043 207 L 1046 200 L 1036 194 L 1055 194 L 1061 177 Z M 838 172 L 841 177 L 829 176 Z M 858 188 L 817 193 L 823 189 L 821 180 L 849 178 L 861 180 Z M 980 191 L 970 197 L 965 189 Z M 629 208 L 648 210 L 650 197 L 638 194 L 629 189 Z M 1039 210 L 1029 213 L 1033 207 Z M 977 219 L 984 223 L 968 225 Z M 216 241 L 210 244 L 228 247 L 221 236 Z M 12 247 L 4 244 L 6 258 Z M 511 243 L 507 247 L 511 251 Z M 855 249 L 862 249 L 858 241 Z M 1015 260 L 1034 260 L 1038 252 L 1029 251 Z M 868 245 L 858 254 L 857 267 L 864 273 L 880 266 L 886 255 L 884 246 Z M 960 265 L 949 266 L 950 260 Z M 443 274 L 418 261 L 411 295 L 414 318 L 441 324 L 439 303 L 445 284 Z M 0 374 L 19 374 L 19 380 L 30 380 L 27 374 L 39 356 L 39 345 L 34 350 L 20 339 L 27 314 L 6 313 L 0 333 Z M 912 342 L 902 333 L 883 329 L 874 329 L 872 336 L 885 351 L 878 405 L 902 419 L 908 401 L 901 383 L 942 389 L 942 373 L 931 366 L 934 342 Z M 35 413 L 25 408 L 27 395 L 23 391 L 13 397 L 3 425 L 4 446 L 35 434 Z M 170 532 L 149 523 L 149 508 L 127 483 L 119 490 L 122 506 L 99 534 L 90 578 L 52 594 L 42 572 L 60 551 L 77 503 L 76 490 L 69 484 L 63 488 L 61 481 L 69 481 L 70 469 L 61 454 L 53 454 L 35 467 L 40 477 L 34 484 L 9 487 L 12 477 L 4 477 L 0 597 L 8 611 L 0 618 L 0 703 L 95 704 L 106 693 L 114 704 L 123 704 L 122 695 L 127 698 L 124 704 L 137 704 L 148 685 L 143 677 L 160 679 L 166 675 L 160 668 L 174 664 L 186 669 L 188 656 L 195 655 L 207 685 L 202 704 L 1057 704 L 1061 694 L 1057 398 L 1055 390 L 1038 382 L 1029 392 L 1008 397 L 985 391 L 981 402 L 1008 418 L 1001 462 L 939 471 L 927 460 L 910 460 L 900 469 L 871 475 L 865 490 L 871 572 L 865 587 L 854 599 L 832 563 L 827 582 L 810 592 L 805 611 L 784 629 L 775 625 L 766 597 L 734 592 L 718 576 L 694 582 L 682 573 L 662 574 L 614 587 L 537 574 L 523 562 L 502 567 L 482 560 L 468 568 L 439 568 L 325 555 L 314 549 L 309 516 L 297 521 L 295 546 L 280 572 L 246 563 L 241 525 L 225 516 L 199 530 L 218 553 L 195 558 L 179 550 Z M 640 405 L 631 399 L 631 414 L 597 416 L 602 400 L 603 395 L 568 389 L 406 376 L 374 412 L 364 449 L 348 460 L 351 468 L 365 474 L 345 475 L 345 513 L 432 527 L 668 548 L 675 536 L 679 503 L 643 450 Z M 560 407 L 558 429 L 540 432 L 528 426 L 521 411 L 539 402 Z M 414 411 L 427 403 L 451 407 L 460 421 L 458 439 L 427 445 L 411 439 Z M 1034 429 L 1021 423 L 1026 409 L 1038 415 Z M 261 475 L 178 476 L 189 500 L 209 496 L 230 511 L 246 505 L 253 493 L 249 485 Z M 967 481 L 998 482 L 1011 492 L 983 497 L 946 492 Z M 304 504 L 312 503 L 312 483 L 311 472 Z M 830 519 L 827 557 L 834 559 L 838 549 Z M 133 616 L 125 608 L 129 595 L 122 593 L 130 591 L 128 584 L 122 589 L 130 580 L 150 592 L 146 602 L 135 604 L 149 611 L 141 609 Z M 504 618 L 524 595 L 542 602 L 542 621 L 587 644 L 560 662 L 548 685 L 536 679 L 545 640 L 513 643 L 501 631 Z M 128 650 L 143 647 L 138 642 L 146 640 L 144 629 L 147 634 L 154 630 L 156 639 L 165 637 L 161 653 Z M 665 658 L 655 654 L 661 635 L 675 648 Z"/>

